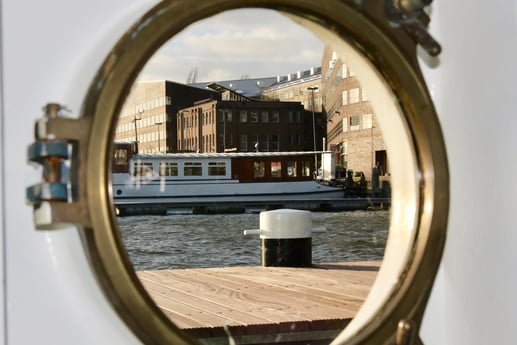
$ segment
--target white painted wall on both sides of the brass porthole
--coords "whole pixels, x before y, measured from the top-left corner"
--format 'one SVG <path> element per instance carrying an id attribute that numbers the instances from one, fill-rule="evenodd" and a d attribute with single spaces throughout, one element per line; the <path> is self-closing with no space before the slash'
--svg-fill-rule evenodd
<path id="1" fill-rule="evenodd" d="M 73 228 L 33 227 L 25 187 L 32 122 L 49 102 L 80 108 L 115 41 L 152 1 L 2 0 L 0 206 L 4 344 L 134 344 L 98 290 Z M 425 344 L 517 338 L 517 2 L 435 0 L 443 46 L 422 63 L 447 145 L 448 241 L 421 331 Z M 0 320 L 2 321 L 2 320 Z"/>

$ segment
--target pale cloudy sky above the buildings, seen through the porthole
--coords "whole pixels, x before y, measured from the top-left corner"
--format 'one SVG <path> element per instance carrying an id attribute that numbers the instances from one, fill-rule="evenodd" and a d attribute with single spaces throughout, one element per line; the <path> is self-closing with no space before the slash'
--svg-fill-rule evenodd
<path id="1" fill-rule="evenodd" d="M 196 22 L 161 47 L 139 80 L 185 83 L 275 77 L 321 66 L 323 42 L 278 12 L 239 9 Z"/>

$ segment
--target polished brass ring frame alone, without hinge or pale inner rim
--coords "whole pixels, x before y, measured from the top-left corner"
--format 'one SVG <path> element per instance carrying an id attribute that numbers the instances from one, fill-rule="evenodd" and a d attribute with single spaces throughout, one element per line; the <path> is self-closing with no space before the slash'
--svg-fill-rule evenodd
<path id="1" fill-rule="evenodd" d="M 196 343 L 159 311 L 128 260 L 112 199 L 112 140 L 124 100 L 152 54 L 189 24 L 242 7 L 286 12 L 331 30 L 361 52 L 398 97 L 421 176 L 417 235 L 397 291 L 348 344 L 420 343 L 418 327 L 445 243 L 448 166 L 438 118 L 418 66 L 416 44 L 400 26 L 386 19 L 383 1 L 164 1 L 127 31 L 95 76 L 79 119 L 86 134 L 77 138 L 80 191 L 75 200 L 81 210 L 76 212 L 100 285 L 142 342 Z"/>

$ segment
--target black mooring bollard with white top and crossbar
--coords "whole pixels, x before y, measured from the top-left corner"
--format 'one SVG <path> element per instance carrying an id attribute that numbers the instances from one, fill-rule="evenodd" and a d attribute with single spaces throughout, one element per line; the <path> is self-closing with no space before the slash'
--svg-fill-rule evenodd
<path id="1" fill-rule="evenodd" d="M 280 209 L 260 212 L 260 229 L 244 230 L 244 236 L 260 235 L 262 266 L 309 267 L 312 265 L 312 228 L 309 211 Z"/>

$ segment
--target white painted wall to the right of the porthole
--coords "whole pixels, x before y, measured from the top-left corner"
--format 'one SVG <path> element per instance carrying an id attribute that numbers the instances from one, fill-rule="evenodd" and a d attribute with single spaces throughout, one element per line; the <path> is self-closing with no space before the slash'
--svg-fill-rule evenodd
<path id="1" fill-rule="evenodd" d="M 517 2 L 437 0 L 425 67 L 450 164 L 448 239 L 426 344 L 517 341 Z"/>

